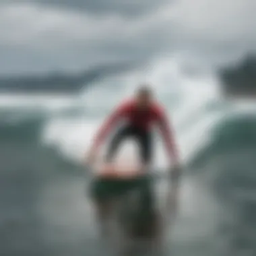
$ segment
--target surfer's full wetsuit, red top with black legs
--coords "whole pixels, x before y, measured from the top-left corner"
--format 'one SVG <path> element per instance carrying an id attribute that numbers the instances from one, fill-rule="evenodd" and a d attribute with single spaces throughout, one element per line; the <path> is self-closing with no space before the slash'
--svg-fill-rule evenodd
<path id="1" fill-rule="evenodd" d="M 152 125 L 158 125 L 162 131 L 166 149 L 170 157 L 177 158 L 177 150 L 174 145 L 173 135 L 168 125 L 166 113 L 160 104 L 154 102 L 146 109 L 137 107 L 135 100 L 127 100 L 120 104 L 114 112 L 106 119 L 100 131 L 96 134 L 95 146 L 98 147 L 107 137 L 108 133 L 119 123 L 124 121 L 125 125 L 115 133 L 110 141 L 106 154 L 106 160 L 111 161 L 117 152 L 120 143 L 126 137 L 134 137 L 140 147 L 141 161 L 148 164 L 152 159 Z"/>

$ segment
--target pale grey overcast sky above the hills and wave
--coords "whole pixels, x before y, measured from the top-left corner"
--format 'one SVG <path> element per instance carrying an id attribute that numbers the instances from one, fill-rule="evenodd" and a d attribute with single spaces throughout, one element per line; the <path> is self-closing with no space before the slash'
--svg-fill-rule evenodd
<path id="1" fill-rule="evenodd" d="M 255 0 L 0 0 L 0 73 L 256 50 Z"/>

